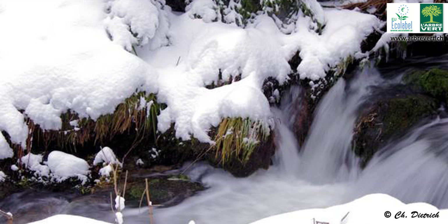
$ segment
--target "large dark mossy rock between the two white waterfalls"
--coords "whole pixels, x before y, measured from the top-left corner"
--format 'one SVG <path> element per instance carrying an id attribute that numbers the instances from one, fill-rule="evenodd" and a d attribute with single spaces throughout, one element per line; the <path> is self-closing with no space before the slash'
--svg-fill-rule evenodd
<path id="1" fill-rule="evenodd" d="M 380 99 L 358 117 L 352 140 L 353 151 L 361 157 L 364 168 L 381 146 L 437 109 L 437 100 L 422 94 Z"/>

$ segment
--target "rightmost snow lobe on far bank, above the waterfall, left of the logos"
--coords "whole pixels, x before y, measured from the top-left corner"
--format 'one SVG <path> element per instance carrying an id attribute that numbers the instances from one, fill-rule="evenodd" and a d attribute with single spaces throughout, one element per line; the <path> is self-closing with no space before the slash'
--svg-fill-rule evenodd
<path id="1" fill-rule="evenodd" d="M 327 24 L 322 35 L 310 32 L 306 17 L 296 22 L 297 32 L 289 35 L 287 44 L 299 50 L 302 62 L 297 67 L 301 79 L 318 80 L 324 78 L 328 70 L 336 67 L 341 60 L 355 56 L 361 51 L 362 40 L 382 23 L 373 15 L 350 10 L 324 10 Z M 295 49 L 295 47 L 297 47 Z"/>

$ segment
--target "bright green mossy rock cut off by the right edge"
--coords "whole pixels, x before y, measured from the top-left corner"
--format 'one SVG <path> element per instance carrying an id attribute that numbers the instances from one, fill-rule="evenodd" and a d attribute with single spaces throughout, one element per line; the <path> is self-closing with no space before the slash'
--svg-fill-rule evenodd
<path id="1" fill-rule="evenodd" d="M 443 102 L 448 100 L 448 70 L 413 70 L 403 76 L 403 82 Z"/>

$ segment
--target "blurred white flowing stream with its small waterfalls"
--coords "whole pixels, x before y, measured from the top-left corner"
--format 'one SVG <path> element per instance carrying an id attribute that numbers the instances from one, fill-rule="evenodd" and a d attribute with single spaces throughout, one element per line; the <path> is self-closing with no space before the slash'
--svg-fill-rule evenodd
<path id="1" fill-rule="evenodd" d="M 196 164 L 187 174 L 209 187 L 181 204 L 156 208 L 158 224 L 248 224 L 264 217 L 306 208 L 328 207 L 365 194 L 386 193 L 403 202 L 429 202 L 448 208 L 448 118 L 418 125 L 405 137 L 375 154 L 365 169 L 351 151 L 354 122 L 372 87 L 399 78 L 383 79 L 375 68 L 359 71 L 353 80 L 339 81 L 314 112 L 308 137 L 299 148 L 291 131 L 293 87 L 274 108 L 278 118 L 274 165 L 247 178 Z M 113 222 L 107 204 L 65 205 L 60 213 Z M 125 223 L 146 224 L 146 209 L 126 208 Z"/>

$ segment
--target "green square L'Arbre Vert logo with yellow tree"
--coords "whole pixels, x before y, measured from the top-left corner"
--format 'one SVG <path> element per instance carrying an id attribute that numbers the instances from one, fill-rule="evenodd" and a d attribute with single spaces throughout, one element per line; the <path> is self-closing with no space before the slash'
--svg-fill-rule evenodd
<path id="1" fill-rule="evenodd" d="M 432 33 L 444 31 L 443 4 L 420 4 L 420 31 Z"/>

